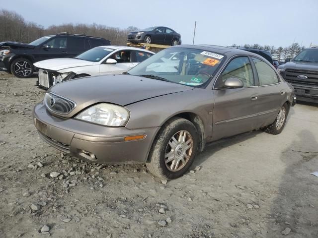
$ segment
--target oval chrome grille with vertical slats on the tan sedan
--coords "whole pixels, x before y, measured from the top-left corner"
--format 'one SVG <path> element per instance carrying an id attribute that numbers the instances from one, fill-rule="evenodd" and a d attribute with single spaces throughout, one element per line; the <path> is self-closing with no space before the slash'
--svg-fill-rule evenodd
<path id="1" fill-rule="evenodd" d="M 76 107 L 76 104 L 71 100 L 52 93 L 47 93 L 44 100 L 45 105 L 49 110 L 62 115 L 71 113 Z"/>

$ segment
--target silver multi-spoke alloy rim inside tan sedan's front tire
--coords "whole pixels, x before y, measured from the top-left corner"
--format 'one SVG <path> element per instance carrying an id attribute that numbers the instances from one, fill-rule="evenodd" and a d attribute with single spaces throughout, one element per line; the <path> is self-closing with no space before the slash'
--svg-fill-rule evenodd
<path id="1" fill-rule="evenodd" d="M 193 150 L 193 139 L 186 130 L 180 130 L 169 140 L 164 154 L 164 163 L 169 171 L 181 170 L 189 161 Z"/>

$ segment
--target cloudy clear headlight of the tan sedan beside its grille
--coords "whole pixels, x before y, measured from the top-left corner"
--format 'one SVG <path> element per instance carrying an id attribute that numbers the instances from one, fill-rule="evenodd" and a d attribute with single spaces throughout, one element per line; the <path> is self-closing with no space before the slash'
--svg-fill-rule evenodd
<path id="1" fill-rule="evenodd" d="M 101 125 L 124 126 L 129 119 L 129 112 L 121 106 L 100 103 L 86 109 L 76 116 L 76 119 Z"/>

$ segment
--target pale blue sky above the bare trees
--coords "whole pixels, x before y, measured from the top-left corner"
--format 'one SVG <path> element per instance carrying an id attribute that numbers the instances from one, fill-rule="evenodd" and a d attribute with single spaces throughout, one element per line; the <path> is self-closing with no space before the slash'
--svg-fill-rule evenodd
<path id="1" fill-rule="evenodd" d="M 0 0 L 0 8 L 44 27 L 167 26 L 182 44 L 192 44 L 197 21 L 195 44 L 318 45 L 318 0 Z"/>

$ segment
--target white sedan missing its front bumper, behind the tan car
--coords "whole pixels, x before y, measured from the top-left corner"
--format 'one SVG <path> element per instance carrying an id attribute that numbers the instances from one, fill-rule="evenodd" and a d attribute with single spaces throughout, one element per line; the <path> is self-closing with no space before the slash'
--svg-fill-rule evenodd
<path id="1" fill-rule="evenodd" d="M 48 89 L 72 78 L 123 73 L 154 54 L 135 47 L 99 46 L 75 58 L 38 61 L 34 63 L 39 69 L 36 84 Z"/>

